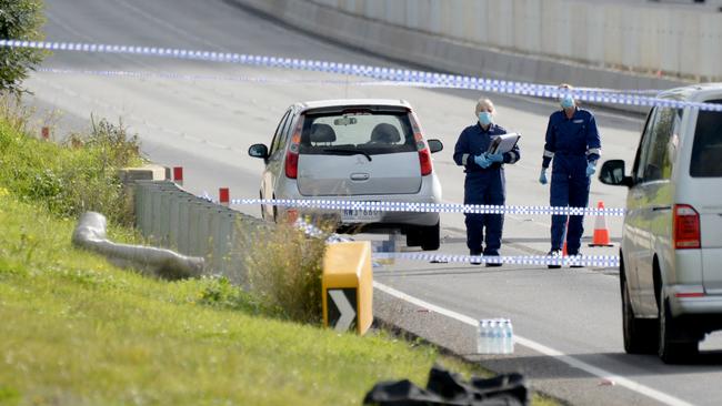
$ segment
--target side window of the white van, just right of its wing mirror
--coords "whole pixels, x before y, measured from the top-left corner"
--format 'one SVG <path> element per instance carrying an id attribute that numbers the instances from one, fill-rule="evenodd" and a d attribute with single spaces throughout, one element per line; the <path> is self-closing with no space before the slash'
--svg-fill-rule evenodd
<path id="1" fill-rule="evenodd" d="M 681 115 L 682 110 L 658 109 L 644 162 L 644 182 L 666 180 L 672 175 L 672 149 L 669 146 Z"/>

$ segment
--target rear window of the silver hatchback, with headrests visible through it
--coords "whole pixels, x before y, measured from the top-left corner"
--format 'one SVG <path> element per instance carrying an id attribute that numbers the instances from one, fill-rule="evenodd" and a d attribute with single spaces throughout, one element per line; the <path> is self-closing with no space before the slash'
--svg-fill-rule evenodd
<path id="1" fill-rule="evenodd" d="M 301 133 L 301 154 L 369 155 L 417 151 L 407 112 L 358 111 L 307 114 Z"/>

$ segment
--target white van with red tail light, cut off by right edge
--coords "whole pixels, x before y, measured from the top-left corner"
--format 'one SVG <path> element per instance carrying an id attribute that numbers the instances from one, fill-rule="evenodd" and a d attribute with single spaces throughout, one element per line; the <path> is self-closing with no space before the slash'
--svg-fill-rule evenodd
<path id="1" fill-rule="evenodd" d="M 722 83 L 661 99 L 722 104 Z M 654 108 L 631 175 L 608 161 L 600 181 L 629 187 L 620 248 L 624 349 L 665 363 L 696 355 L 722 329 L 722 112 Z"/>

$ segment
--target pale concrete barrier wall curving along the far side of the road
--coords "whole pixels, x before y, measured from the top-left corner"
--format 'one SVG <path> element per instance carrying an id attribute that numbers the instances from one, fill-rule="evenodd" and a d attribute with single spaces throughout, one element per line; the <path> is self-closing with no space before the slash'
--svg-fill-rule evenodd
<path id="1" fill-rule="evenodd" d="M 625 23 L 648 21 L 650 18 L 644 12 L 646 9 L 640 11 L 622 3 L 599 6 L 592 2 L 573 2 L 573 7 L 571 7 L 570 0 L 544 0 L 542 8 L 541 0 L 229 1 L 344 45 L 404 61 L 412 65 L 423 65 L 447 72 L 535 83 L 569 82 L 583 87 L 639 90 L 669 89 L 685 82 L 634 74 L 631 72 L 634 70 L 656 72 L 662 69 L 670 73 L 692 75 L 695 80 L 709 79 L 716 72 L 718 78 L 722 78 L 719 68 L 722 51 L 720 47 L 716 47 L 720 35 L 722 35 L 722 20 L 720 20 L 722 17 L 714 14 L 708 17 L 696 17 L 696 14 L 689 17 L 692 16 L 689 12 L 682 14 L 686 16 L 685 19 L 693 20 L 692 22 L 699 19 L 700 24 L 710 27 L 711 37 L 716 39 L 716 42 L 709 47 L 705 45 L 705 51 L 702 51 L 702 48 L 695 51 L 704 61 L 710 59 L 711 62 L 704 62 L 705 68 L 694 72 L 690 69 L 672 69 L 674 67 L 670 64 L 671 61 L 668 61 L 670 54 L 664 48 L 666 43 L 664 41 L 670 41 L 670 38 L 660 40 L 662 42 L 654 45 L 654 49 L 659 50 L 659 57 L 664 58 L 664 64 L 661 64 L 662 59 L 652 59 L 659 61 L 659 67 L 651 67 L 658 62 L 649 62 L 651 68 L 626 65 L 626 60 L 615 59 L 619 52 L 612 52 L 616 47 L 613 43 L 620 44 L 625 50 L 622 52 L 624 55 L 646 52 L 641 49 L 629 49 L 630 45 L 624 41 L 625 38 L 620 38 L 615 31 L 622 30 L 626 26 L 619 26 L 622 22 L 614 19 L 615 17 L 620 18 L 620 11 L 615 10 L 626 7 L 620 9 L 630 10 L 629 13 L 622 13 L 624 14 L 622 20 Z M 552 18 L 552 10 L 561 10 L 564 6 L 570 6 L 569 11 L 560 11 L 562 17 Z M 604 12 L 602 13 L 602 11 Z M 652 11 L 649 12 L 652 13 Z M 590 16 L 595 16 L 594 13 L 602 13 L 603 21 L 608 22 L 609 28 L 605 27 L 600 31 L 600 24 L 603 24 L 600 22 L 602 20 L 594 20 L 594 23 L 591 23 L 593 19 Z M 490 20 L 479 21 L 478 17 L 480 16 Z M 489 16 L 493 16 L 493 18 Z M 584 16 L 584 19 L 579 16 Z M 638 16 L 639 20 L 632 21 L 630 16 Z M 718 21 L 720 21 L 719 27 L 714 26 Z M 674 22 L 673 27 L 676 29 L 679 24 L 679 22 Z M 482 32 L 481 27 L 489 28 Z M 569 35 L 572 30 L 576 32 L 582 29 L 592 31 L 583 35 Z M 665 28 L 649 26 L 644 30 L 665 30 Z M 552 33 L 558 37 L 552 37 Z M 604 35 L 612 35 L 618 41 L 609 40 L 610 44 L 605 43 L 602 47 L 599 41 Z M 686 35 L 688 42 L 695 41 L 696 37 Z M 642 35 L 642 33 L 636 37 L 643 37 L 648 41 L 655 38 L 653 34 Z M 561 44 L 558 43 L 559 38 L 570 40 Z M 702 40 L 705 38 L 704 35 L 700 35 L 700 42 L 710 42 L 708 39 Z M 682 37 L 680 37 L 681 40 Z M 700 47 L 702 45 L 700 44 Z M 540 53 L 539 50 L 542 52 Z M 711 53 L 704 53 L 706 50 L 710 50 Z M 691 52 L 682 49 L 678 51 L 673 54 L 674 61 L 684 59 L 685 54 Z M 560 52 L 565 53 L 560 54 Z M 608 60 L 589 59 L 589 55 L 596 54 L 608 55 Z M 691 54 L 688 57 L 692 58 Z M 692 58 L 692 60 L 696 59 Z M 690 63 L 686 61 L 683 64 L 686 68 L 693 68 L 688 67 Z M 624 70 L 608 69 L 610 67 L 624 68 Z"/>

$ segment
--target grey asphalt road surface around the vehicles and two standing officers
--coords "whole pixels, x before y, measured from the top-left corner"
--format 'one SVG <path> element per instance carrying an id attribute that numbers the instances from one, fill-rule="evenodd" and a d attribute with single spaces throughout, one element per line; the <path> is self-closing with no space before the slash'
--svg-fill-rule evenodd
<path id="1" fill-rule="evenodd" d="M 231 0 L 47 0 L 47 3 L 49 41 L 394 64 L 289 30 L 232 6 Z M 60 111 L 43 119 L 53 123 L 53 136 L 62 138 L 68 131 L 87 126 L 91 113 L 112 121 L 120 118 L 140 135 L 142 151 L 151 160 L 184 168 L 184 186 L 191 192 L 214 195 L 218 187 L 229 186 L 233 199 L 258 195 L 262 162 L 249 158 L 247 149 L 270 141 L 278 120 L 291 103 L 335 98 L 405 99 L 417 109 L 427 138 L 441 139 L 445 144 L 445 150 L 434 155 L 444 200 L 463 200 L 463 173 L 453 163 L 451 151 L 459 132 L 474 121 L 479 92 L 369 87 L 359 85 L 358 78 L 151 57 L 58 52 L 43 68 L 66 70 L 62 73 L 41 71 L 27 82 L 34 92 L 30 102 L 43 111 Z M 130 78 L 108 74 L 108 71 L 146 74 Z M 167 73 L 185 77 L 162 77 Z M 339 84 L 340 80 L 347 82 Z M 497 104 L 498 122 L 523 134 L 522 160 L 507 169 L 508 204 L 548 204 L 549 190 L 539 185 L 537 179 L 546 118 L 555 103 L 489 97 Z M 631 162 L 641 120 L 600 110 L 596 115 L 604 158 Z M 624 199 L 625 190 L 594 181 L 592 204 L 603 201 L 608 207 L 619 207 L 624 205 Z M 258 207 L 237 209 L 254 215 L 260 213 Z M 612 237 L 619 237 L 620 219 L 608 219 L 608 222 Z M 444 214 L 442 224 L 444 242 L 440 252 L 465 253 L 463 216 Z M 593 219 L 586 219 L 585 225 L 590 235 Z M 502 254 L 546 252 L 548 235 L 545 216 L 507 216 Z M 615 248 L 584 252 L 614 254 Z M 722 341 L 714 336 L 704 343 L 706 352 L 695 365 L 666 366 L 655 357 L 624 355 L 614 270 L 550 272 L 504 266 L 490 272 L 467 264 L 397 263 L 377 270 L 377 280 L 473 318 L 509 317 L 520 336 L 679 400 L 713 405 L 722 398 L 722 387 L 718 385 L 722 379 L 722 353 L 719 352 Z M 434 333 L 439 335 L 438 331 Z M 509 366 L 533 369 L 532 376 L 544 390 L 580 404 L 656 402 L 622 385 L 592 390 L 596 380 L 591 375 L 533 348 L 518 346 L 514 356 L 483 359 L 500 369 Z"/>

